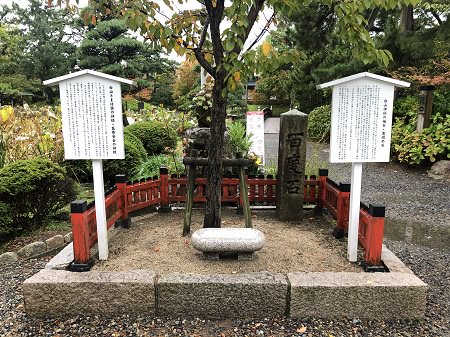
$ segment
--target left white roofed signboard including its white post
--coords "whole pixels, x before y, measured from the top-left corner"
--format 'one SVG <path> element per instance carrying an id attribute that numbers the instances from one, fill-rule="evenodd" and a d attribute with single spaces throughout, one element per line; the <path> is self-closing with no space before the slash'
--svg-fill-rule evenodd
<path id="1" fill-rule="evenodd" d="M 91 159 L 98 256 L 108 258 L 102 159 L 124 159 L 122 92 L 124 78 L 85 69 L 44 81 L 59 85 L 65 159 Z"/>

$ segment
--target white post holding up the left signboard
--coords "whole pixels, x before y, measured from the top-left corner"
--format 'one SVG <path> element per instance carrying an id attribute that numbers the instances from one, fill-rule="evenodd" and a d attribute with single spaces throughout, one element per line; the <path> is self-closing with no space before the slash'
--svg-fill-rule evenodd
<path id="1" fill-rule="evenodd" d="M 95 218 L 97 220 L 98 258 L 108 259 L 108 227 L 106 226 L 105 184 L 101 159 L 92 160 L 95 196 Z"/>

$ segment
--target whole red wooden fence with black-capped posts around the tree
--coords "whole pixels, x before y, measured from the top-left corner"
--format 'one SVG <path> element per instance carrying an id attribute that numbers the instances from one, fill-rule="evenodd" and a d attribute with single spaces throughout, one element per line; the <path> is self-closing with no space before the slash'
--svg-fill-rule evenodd
<path id="1" fill-rule="evenodd" d="M 319 170 L 319 179 L 310 176 L 305 179 L 304 203 L 326 208 L 336 219 L 335 236 L 343 236 L 348 228 L 350 184 L 336 184 L 327 177 L 328 170 Z M 273 176 L 247 176 L 249 201 L 251 204 L 275 205 L 277 180 Z M 160 212 L 170 210 L 171 203 L 186 201 L 186 177 L 171 177 L 166 168 L 161 168 L 160 177 L 127 182 L 124 175 L 116 176 L 116 186 L 106 193 L 107 226 L 119 223 L 129 225 L 128 213 L 139 209 L 158 206 Z M 194 203 L 206 202 L 206 179 L 195 179 Z M 239 179 L 222 179 L 222 202 L 242 206 L 239 194 Z M 381 266 L 381 243 L 384 231 L 382 206 L 369 205 L 361 210 L 359 242 L 365 249 L 366 264 Z M 375 210 L 373 215 L 371 210 Z M 383 208 L 384 212 L 384 208 Z M 70 269 L 88 270 L 89 250 L 97 242 L 95 207 L 85 201 L 71 204 L 71 222 L 74 242 L 74 262 Z"/>

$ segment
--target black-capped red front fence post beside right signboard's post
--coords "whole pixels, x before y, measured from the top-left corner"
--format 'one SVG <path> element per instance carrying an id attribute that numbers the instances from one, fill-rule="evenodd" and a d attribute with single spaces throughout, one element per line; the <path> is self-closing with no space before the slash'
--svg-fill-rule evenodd
<path id="1" fill-rule="evenodd" d="M 371 215 L 366 228 L 365 271 L 384 271 L 381 263 L 383 247 L 384 216 L 386 209 L 383 205 L 369 204 L 368 213 Z"/>

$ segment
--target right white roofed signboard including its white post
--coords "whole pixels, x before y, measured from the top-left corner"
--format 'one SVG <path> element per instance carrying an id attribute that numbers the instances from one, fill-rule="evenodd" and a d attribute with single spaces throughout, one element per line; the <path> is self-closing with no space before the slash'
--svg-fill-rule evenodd
<path id="1" fill-rule="evenodd" d="M 330 162 L 352 163 L 347 256 L 356 262 L 362 163 L 389 162 L 394 88 L 409 83 L 364 72 L 323 83 L 333 88 Z"/>

